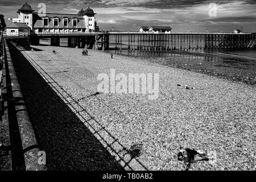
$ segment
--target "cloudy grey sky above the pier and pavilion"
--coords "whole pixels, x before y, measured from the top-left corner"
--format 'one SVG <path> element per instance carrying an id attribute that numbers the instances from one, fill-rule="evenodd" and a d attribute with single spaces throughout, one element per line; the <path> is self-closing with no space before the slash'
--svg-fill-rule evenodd
<path id="1" fill-rule="evenodd" d="M 18 18 L 26 1 L 0 0 L 0 14 Z M 140 26 L 170 26 L 174 32 L 256 32 L 256 1 L 204 0 L 27 0 L 35 12 L 77 14 L 90 6 L 100 30 L 138 31 Z M 214 3 L 214 4 L 213 4 Z"/>

